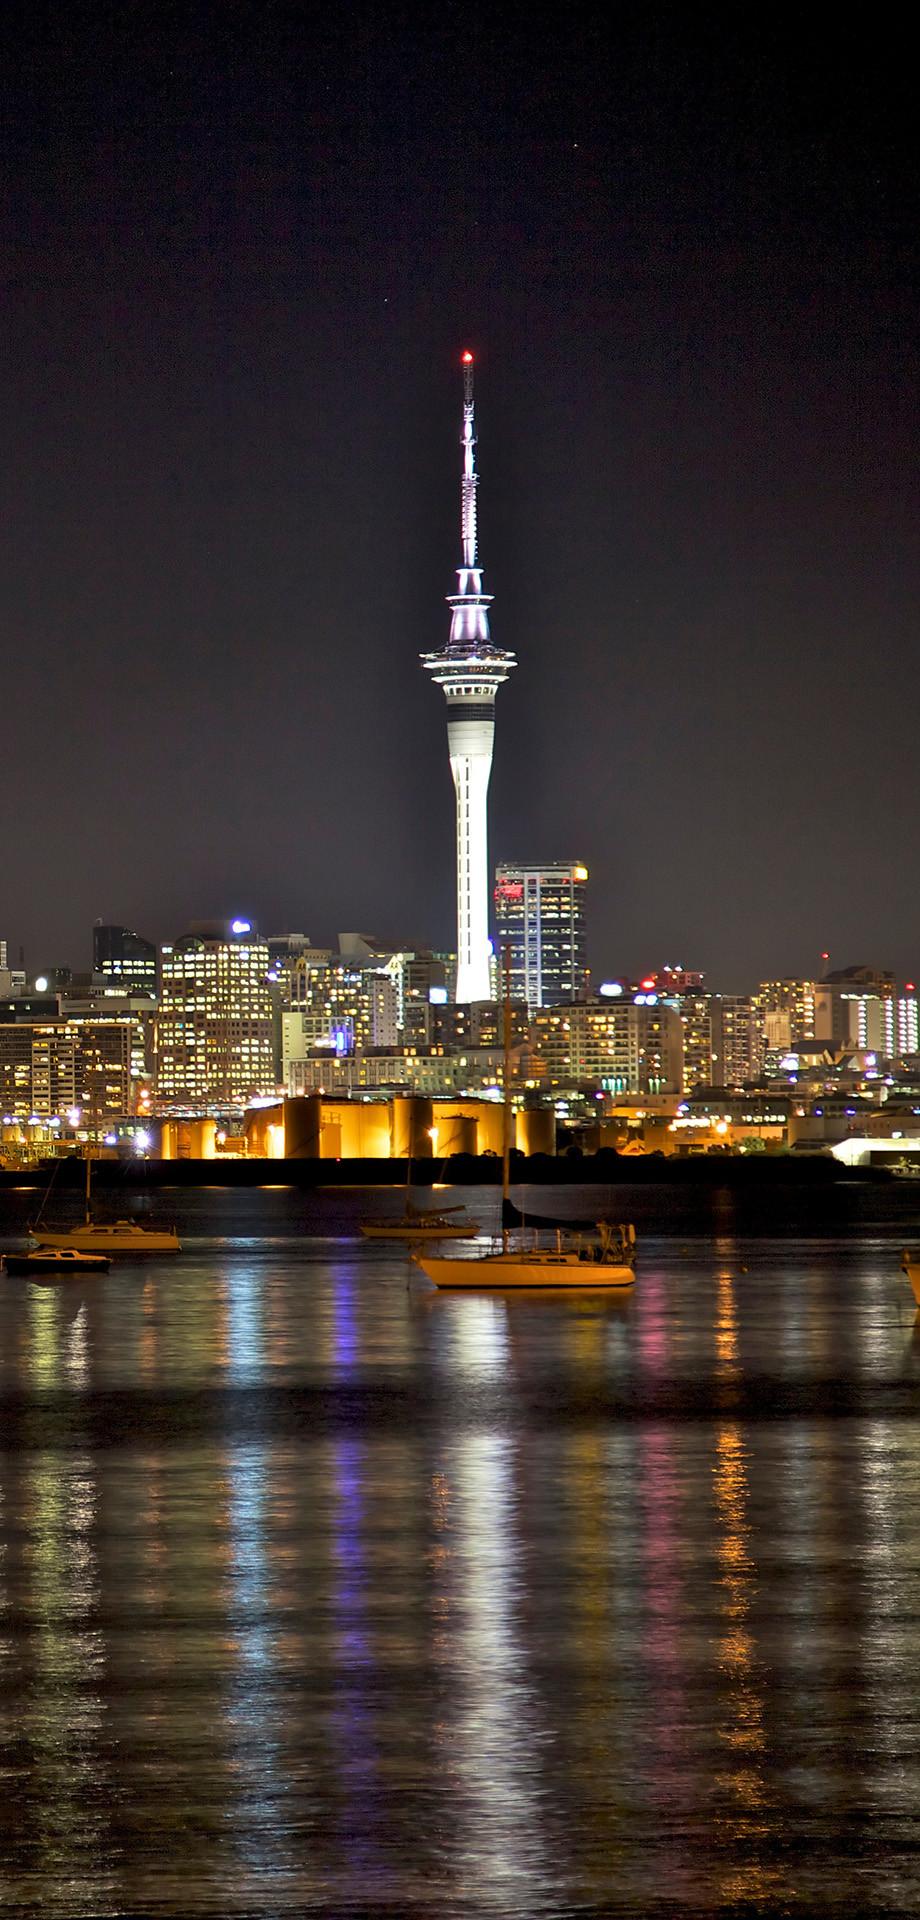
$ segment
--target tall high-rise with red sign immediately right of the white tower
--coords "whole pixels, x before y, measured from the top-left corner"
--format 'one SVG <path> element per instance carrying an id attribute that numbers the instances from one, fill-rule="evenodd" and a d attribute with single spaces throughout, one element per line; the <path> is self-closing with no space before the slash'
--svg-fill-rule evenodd
<path id="1" fill-rule="evenodd" d="M 509 948 L 511 996 L 530 1010 L 574 1000 L 588 983 L 586 879 L 570 862 L 496 868 L 497 947 Z"/>

